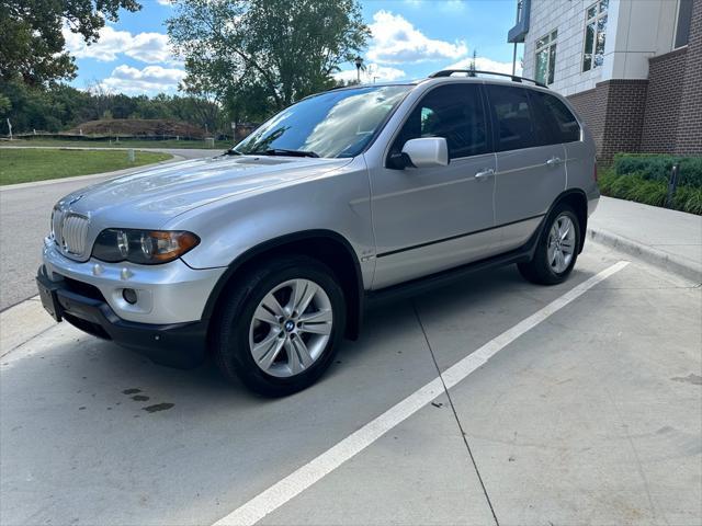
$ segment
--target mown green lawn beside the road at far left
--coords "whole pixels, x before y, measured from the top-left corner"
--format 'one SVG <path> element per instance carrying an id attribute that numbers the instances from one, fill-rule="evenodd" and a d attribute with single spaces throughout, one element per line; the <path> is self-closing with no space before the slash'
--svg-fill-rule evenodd
<path id="1" fill-rule="evenodd" d="M 168 153 L 0 148 L 0 185 L 111 172 L 171 159 Z"/>

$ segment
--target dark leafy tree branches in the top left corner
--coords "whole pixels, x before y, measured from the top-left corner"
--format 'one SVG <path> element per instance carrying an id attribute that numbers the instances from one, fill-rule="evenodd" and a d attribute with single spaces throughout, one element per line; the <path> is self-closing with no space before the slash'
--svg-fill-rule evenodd
<path id="1" fill-rule="evenodd" d="M 0 0 L 0 80 L 30 85 L 71 79 L 76 65 L 64 49 L 64 24 L 95 42 L 118 10 L 138 11 L 136 0 Z"/>

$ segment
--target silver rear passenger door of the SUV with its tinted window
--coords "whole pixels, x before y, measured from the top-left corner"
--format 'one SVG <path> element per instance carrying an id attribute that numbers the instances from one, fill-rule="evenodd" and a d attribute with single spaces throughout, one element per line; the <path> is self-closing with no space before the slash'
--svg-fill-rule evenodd
<path id="1" fill-rule="evenodd" d="M 554 199 L 566 186 L 566 152 L 548 127 L 548 116 L 534 90 L 488 84 L 495 123 L 497 173 L 495 221 L 500 249 L 525 243 Z"/>

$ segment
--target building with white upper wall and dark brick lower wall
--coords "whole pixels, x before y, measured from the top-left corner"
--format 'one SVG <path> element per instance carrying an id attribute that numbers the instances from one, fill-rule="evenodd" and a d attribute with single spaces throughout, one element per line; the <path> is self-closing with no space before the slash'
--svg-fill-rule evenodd
<path id="1" fill-rule="evenodd" d="M 702 155 L 702 0 L 518 0 L 523 76 L 566 95 L 598 157 Z"/>

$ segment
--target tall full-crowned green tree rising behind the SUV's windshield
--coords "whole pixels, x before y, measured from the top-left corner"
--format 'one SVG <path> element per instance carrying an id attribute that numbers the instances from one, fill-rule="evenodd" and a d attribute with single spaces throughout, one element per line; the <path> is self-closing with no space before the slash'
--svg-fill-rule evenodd
<path id="1" fill-rule="evenodd" d="M 167 25 L 184 89 L 214 93 L 236 121 L 333 87 L 370 35 L 356 0 L 177 0 Z"/>

